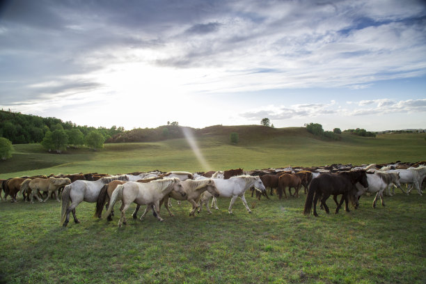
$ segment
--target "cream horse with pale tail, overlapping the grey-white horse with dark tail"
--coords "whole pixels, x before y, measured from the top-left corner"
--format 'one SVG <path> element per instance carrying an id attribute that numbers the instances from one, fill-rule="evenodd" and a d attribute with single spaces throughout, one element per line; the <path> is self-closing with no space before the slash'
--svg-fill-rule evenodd
<path id="1" fill-rule="evenodd" d="M 141 216 L 141 221 L 145 214 L 148 212 L 149 207 L 152 209 L 154 216 L 163 221 L 161 216 L 157 214 L 155 208 L 159 208 L 159 201 L 164 198 L 164 196 L 171 193 L 171 191 L 177 191 L 181 196 L 185 196 L 180 179 L 178 178 L 166 178 L 163 180 L 153 180 L 148 183 L 140 182 L 126 182 L 125 184 L 119 184 L 116 190 L 113 191 L 111 196 L 111 201 L 107 210 L 107 216 L 113 210 L 114 204 L 117 200 L 121 200 L 121 216 L 118 221 L 118 227 L 121 227 L 122 224 L 126 224 L 125 213 L 129 209 L 130 204 L 136 203 L 138 205 L 148 205 L 145 209 L 145 212 Z"/>

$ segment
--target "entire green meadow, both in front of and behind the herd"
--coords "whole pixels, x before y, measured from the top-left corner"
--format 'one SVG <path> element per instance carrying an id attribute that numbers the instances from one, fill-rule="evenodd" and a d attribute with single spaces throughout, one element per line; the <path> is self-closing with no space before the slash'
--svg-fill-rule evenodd
<path id="1" fill-rule="evenodd" d="M 386 134 L 376 139 L 344 135 L 323 141 L 285 129 L 284 135 L 242 132 L 237 145 L 226 134 L 196 137 L 208 163 L 201 164 L 187 141 L 106 144 L 63 155 L 39 145 L 15 145 L 0 164 L 0 178 L 49 173 L 129 173 L 210 169 L 322 166 L 425 160 L 424 134 Z M 397 189 L 399 190 L 399 189 Z M 0 283 L 425 283 L 424 196 L 397 191 L 386 207 L 372 208 L 363 196 L 358 210 L 304 216 L 305 195 L 257 200 L 246 193 L 228 214 L 219 210 L 189 217 L 189 203 L 173 201 L 159 222 L 131 219 L 118 228 L 95 219 L 95 205 L 81 203 L 77 217 L 61 227 L 61 205 L 0 202 Z M 333 212 L 336 205 L 329 199 Z M 116 205 L 116 212 L 118 212 Z M 140 216 L 141 213 L 139 213 Z"/>

